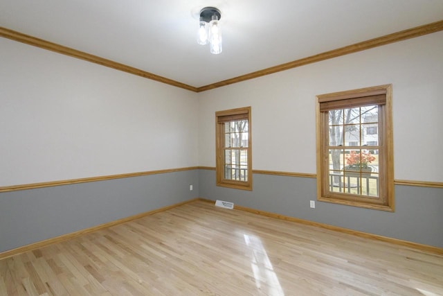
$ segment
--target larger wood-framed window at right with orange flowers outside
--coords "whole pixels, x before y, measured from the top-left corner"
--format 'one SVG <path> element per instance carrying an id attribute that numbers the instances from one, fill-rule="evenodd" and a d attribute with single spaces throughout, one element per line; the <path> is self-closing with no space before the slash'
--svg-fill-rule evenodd
<path id="1" fill-rule="evenodd" d="M 317 96 L 318 200 L 394 211 L 391 89 Z"/>

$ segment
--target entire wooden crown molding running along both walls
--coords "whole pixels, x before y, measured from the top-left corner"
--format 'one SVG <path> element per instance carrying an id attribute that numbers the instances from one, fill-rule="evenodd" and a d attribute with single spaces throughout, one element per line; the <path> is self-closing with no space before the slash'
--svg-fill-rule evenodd
<path id="1" fill-rule="evenodd" d="M 394 42 L 399 42 L 402 40 L 407 40 L 410 38 L 419 37 L 422 35 L 427 35 L 427 34 L 435 33 L 438 31 L 443 31 L 443 20 L 435 21 L 434 23 L 426 24 L 423 26 L 418 26 L 415 28 L 410 28 L 410 29 L 400 31 L 397 33 L 384 35 L 381 37 L 377 37 L 377 38 L 374 38 L 371 40 L 359 42 L 356 44 L 344 46 L 344 47 L 341 47 L 340 49 L 333 49 L 332 51 L 326 51 L 324 53 L 319 53 L 318 55 L 311 55 L 310 57 L 307 57 L 307 58 L 302 58 L 300 60 L 294 60 L 292 62 L 287 62 L 285 64 L 279 64 L 278 66 L 270 67 L 270 68 L 263 69 L 260 71 L 255 71 L 252 73 L 248 73 L 246 75 L 238 76 L 235 78 L 230 78 L 228 80 L 215 82 L 213 84 L 205 85 L 203 87 L 193 87 L 192 85 L 186 85 L 184 83 L 181 83 L 181 82 L 178 82 L 175 80 L 171 80 L 171 79 L 168 79 L 168 78 L 165 78 L 162 76 L 158 76 L 153 73 L 149 73 L 149 72 L 146 72 L 146 71 L 143 71 L 140 69 L 136 69 L 134 67 L 129 67 L 125 64 L 113 62 L 113 61 L 107 60 L 105 58 L 100 58 L 96 55 L 91 55 L 89 53 L 84 53 L 82 51 L 78 51 L 76 49 L 71 49 L 69 47 L 55 44 L 53 42 L 48 42 L 46 40 L 42 40 L 42 39 L 39 39 L 36 37 L 25 35 L 23 33 L 12 31 L 8 28 L 0 27 L 0 37 L 5 37 L 10 40 L 15 40 L 18 42 L 37 46 L 42 49 L 47 49 L 48 51 L 55 51 L 56 53 L 62 53 L 64 55 L 69 55 L 73 58 L 79 58 L 81 60 L 87 60 L 88 62 L 101 64 L 102 66 L 105 66 L 105 67 L 109 67 L 112 69 L 131 73 L 136 76 L 141 76 L 143 78 L 163 82 L 168 85 L 172 85 L 174 87 L 188 89 L 192 92 L 205 92 L 207 90 L 215 89 L 217 87 L 224 87 L 226 85 L 232 85 L 234 83 L 242 82 L 244 80 L 250 80 L 253 78 L 260 77 L 260 76 L 266 76 L 266 75 L 269 75 L 272 73 L 277 73 L 280 71 L 285 71 L 288 69 L 304 66 L 305 64 L 312 64 L 314 62 L 320 62 L 322 60 L 336 58 L 341 55 L 356 53 L 358 51 L 364 51 L 366 49 L 372 49 L 377 46 L 382 46 L 382 45 L 386 45 L 386 44 L 390 44 L 390 43 L 394 43 Z"/>

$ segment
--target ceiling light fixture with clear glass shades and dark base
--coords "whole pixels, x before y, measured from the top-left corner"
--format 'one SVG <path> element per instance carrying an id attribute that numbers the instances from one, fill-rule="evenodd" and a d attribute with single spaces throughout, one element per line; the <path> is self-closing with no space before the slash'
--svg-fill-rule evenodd
<path id="1" fill-rule="evenodd" d="M 221 12 L 215 7 L 205 7 L 200 10 L 197 43 L 201 45 L 209 43 L 210 53 L 215 55 L 218 55 L 222 51 L 220 18 Z"/>

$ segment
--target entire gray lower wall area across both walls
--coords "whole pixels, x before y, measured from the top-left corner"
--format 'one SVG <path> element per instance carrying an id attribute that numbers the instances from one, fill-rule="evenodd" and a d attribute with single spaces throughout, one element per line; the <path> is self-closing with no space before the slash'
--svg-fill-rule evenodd
<path id="1" fill-rule="evenodd" d="M 0 193 L 0 252 L 197 197 L 443 247 L 443 189 L 397 185 L 394 213 L 318 201 L 310 209 L 316 179 L 253 178 L 253 191 L 215 186 L 215 171 L 193 170 Z"/>

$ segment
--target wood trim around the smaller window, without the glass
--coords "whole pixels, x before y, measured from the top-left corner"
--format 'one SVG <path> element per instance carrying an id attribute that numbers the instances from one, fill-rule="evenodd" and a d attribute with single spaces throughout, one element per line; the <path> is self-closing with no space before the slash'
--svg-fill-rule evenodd
<path id="1" fill-rule="evenodd" d="M 247 156 L 247 181 L 227 180 L 224 177 L 224 123 L 248 119 L 248 156 Z M 252 128 L 251 128 L 251 107 L 241 107 L 230 110 L 215 112 L 215 175 L 217 186 L 233 189 L 252 190 Z"/>

